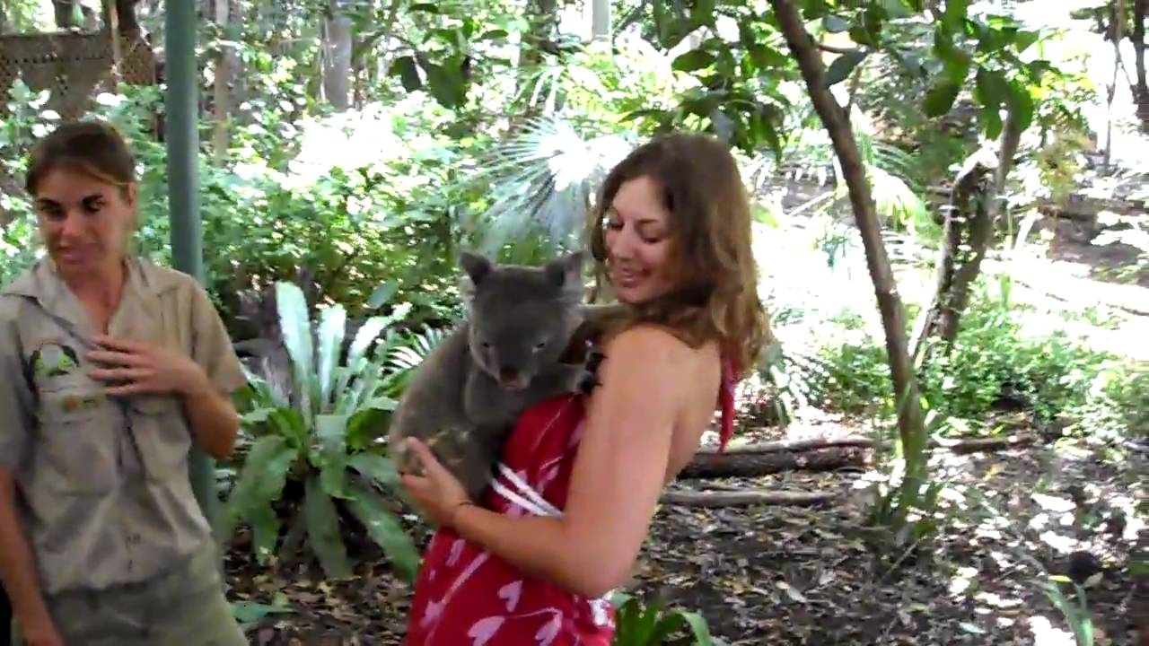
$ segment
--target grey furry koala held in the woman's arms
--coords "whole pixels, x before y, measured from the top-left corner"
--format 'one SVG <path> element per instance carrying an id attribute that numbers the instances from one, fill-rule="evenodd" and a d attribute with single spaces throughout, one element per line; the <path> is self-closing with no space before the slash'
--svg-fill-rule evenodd
<path id="1" fill-rule="evenodd" d="M 565 361 L 568 347 L 618 306 L 583 303 L 583 252 L 542 267 L 494 264 L 470 252 L 460 260 L 470 316 L 415 369 L 392 415 L 388 446 L 400 471 L 419 472 L 402 441 L 423 440 L 479 500 L 519 414 L 585 390 L 588 378 L 593 385 L 584 363 Z"/>

